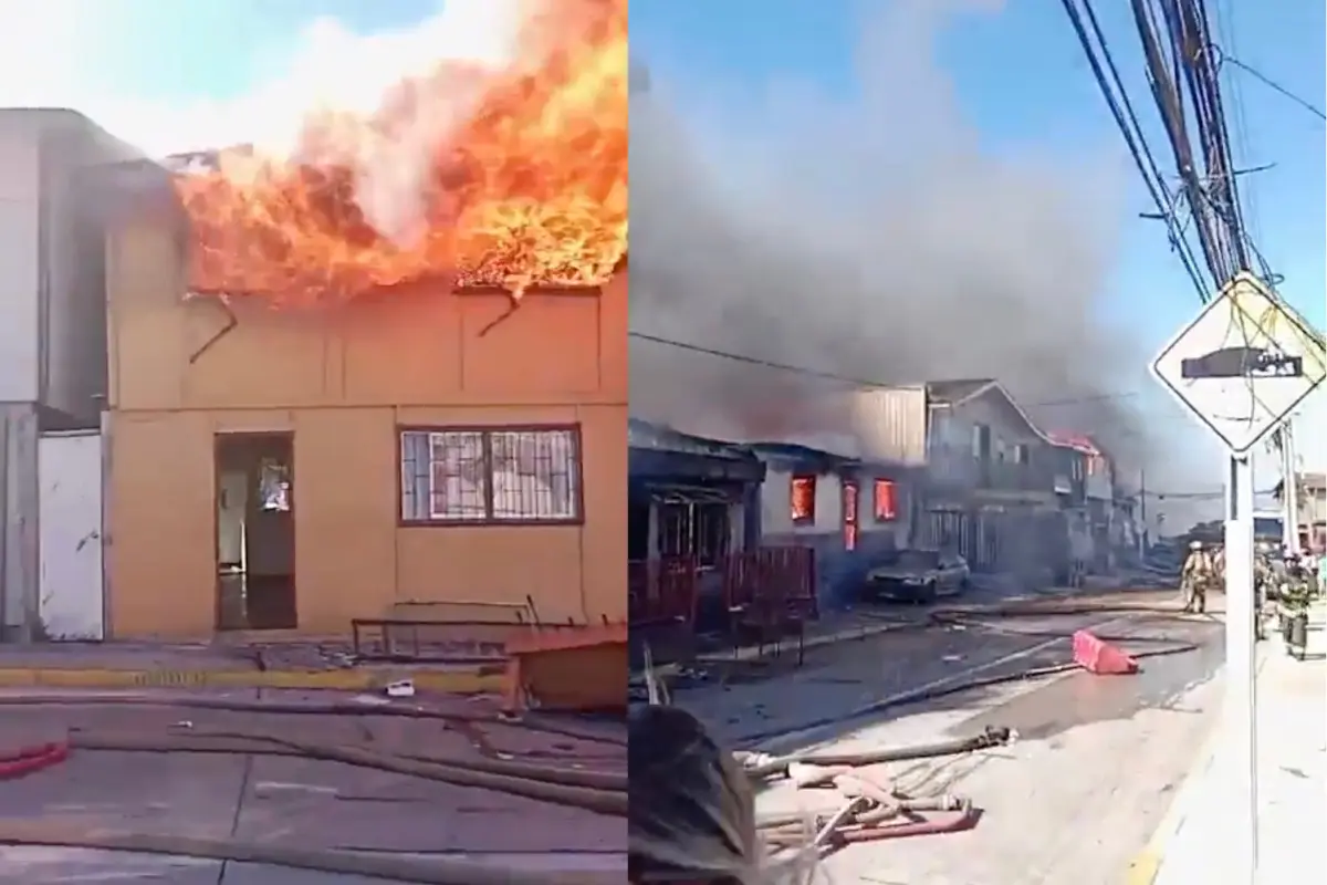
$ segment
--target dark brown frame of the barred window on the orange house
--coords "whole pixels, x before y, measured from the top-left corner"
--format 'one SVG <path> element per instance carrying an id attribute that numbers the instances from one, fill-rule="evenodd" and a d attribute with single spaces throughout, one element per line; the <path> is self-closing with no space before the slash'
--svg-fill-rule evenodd
<path id="1" fill-rule="evenodd" d="M 557 516 L 495 516 L 494 515 L 494 468 L 492 468 L 492 438 L 494 434 L 568 434 L 571 439 L 571 502 L 572 515 Z M 433 494 L 433 441 L 435 434 L 480 434 L 484 464 L 484 516 L 480 517 L 447 517 L 447 516 L 406 516 L 406 438 L 410 434 L 423 434 L 429 438 L 429 494 Z M 540 527 L 540 525 L 584 525 L 585 524 L 585 458 L 579 423 L 537 423 L 537 425 L 397 425 L 397 524 L 399 527 L 427 527 L 427 528 L 456 528 L 456 527 Z M 431 508 L 431 502 L 429 503 Z"/>

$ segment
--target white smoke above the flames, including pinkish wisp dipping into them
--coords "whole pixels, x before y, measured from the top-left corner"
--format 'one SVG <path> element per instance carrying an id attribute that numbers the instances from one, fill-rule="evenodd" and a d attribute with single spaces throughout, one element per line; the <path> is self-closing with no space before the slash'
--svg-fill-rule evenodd
<path id="1" fill-rule="evenodd" d="M 248 7 L 245 7 L 247 9 Z M 406 239 L 422 218 L 422 192 L 433 147 L 474 110 L 483 70 L 515 61 L 523 0 L 445 0 L 415 24 L 357 32 L 318 17 L 275 60 L 252 60 L 251 89 L 227 97 L 162 98 L 107 90 L 114 72 L 84 69 L 78 40 L 97 34 L 92 1 L 21 4 L 0 0 L 0 107 L 72 107 L 149 157 L 252 145 L 263 157 L 338 162 L 357 172 L 357 198 L 366 219 L 386 236 Z M 115 4 L 105 4 L 115 15 Z M 200 25 L 202 27 L 202 25 Z M 145 52 L 151 34 L 145 34 Z M 58 48 L 58 49 L 57 49 Z M 90 53 L 94 54 L 94 53 Z M 407 78 L 423 78 L 441 64 L 462 62 L 475 76 L 451 81 L 419 102 L 409 123 L 390 138 L 356 146 L 353 155 L 299 155 L 304 122 L 316 113 L 366 117 Z M 171 70 L 162 70 L 169 84 Z"/>

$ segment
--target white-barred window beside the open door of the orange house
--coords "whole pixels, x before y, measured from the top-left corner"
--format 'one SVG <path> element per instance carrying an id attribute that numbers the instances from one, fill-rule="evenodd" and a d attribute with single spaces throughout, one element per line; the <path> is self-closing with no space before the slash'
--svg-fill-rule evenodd
<path id="1" fill-rule="evenodd" d="M 580 478 L 577 427 L 401 431 L 406 523 L 579 523 Z"/>

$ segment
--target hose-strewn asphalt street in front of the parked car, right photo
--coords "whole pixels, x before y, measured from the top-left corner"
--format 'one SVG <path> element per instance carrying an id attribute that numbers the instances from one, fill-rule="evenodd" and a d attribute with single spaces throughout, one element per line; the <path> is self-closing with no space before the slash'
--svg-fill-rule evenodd
<path id="1" fill-rule="evenodd" d="M 1097 598 L 1169 605 L 1176 596 Z M 1213 602 L 1220 610 L 1221 597 Z M 1078 673 L 878 709 L 921 686 L 1066 662 L 1078 629 L 1116 637 L 1128 651 L 1198 647 L 1148 658 L 1131 677 Z M 831 881 L 1115 885 L 1214 724 L 1222 661 L 1220 614 L 973 617 L 817 650 L 804 667 L 770 678 L 718 685 L 715 677 L 675 699 L 731 744 L 778 752 L 924 743 L 986 726 L 1018 731 L 998 751 L 873 770 L 908 795 L 967 796 L 981 823 L 966 833 L 847 847 L 824 861 Z M 759 811 L 825 812 L 840 801 L 783 783 L 760 795 Z"/>

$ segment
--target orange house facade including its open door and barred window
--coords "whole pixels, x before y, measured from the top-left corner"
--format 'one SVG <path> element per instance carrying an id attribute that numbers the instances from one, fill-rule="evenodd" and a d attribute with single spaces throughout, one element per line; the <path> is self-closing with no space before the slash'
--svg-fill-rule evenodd
<path id="1" fill-rule="evenodd" d="M 429 287 L 279 310 L 184 297 L 178 235 L 127 219 L 106 276 L 111 636 L 625 621 L 625 264 L 515 310 Z"/>

